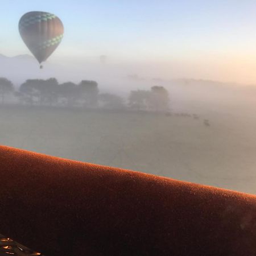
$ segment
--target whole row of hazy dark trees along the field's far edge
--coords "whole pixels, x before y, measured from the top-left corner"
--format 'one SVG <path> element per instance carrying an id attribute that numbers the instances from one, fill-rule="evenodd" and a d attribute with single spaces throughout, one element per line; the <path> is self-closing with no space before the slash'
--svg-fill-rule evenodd
<path id="1" fill-rule="evenodd" d="M 0 102 L 5 104 L 10 97 L 18 104 L 39 106 L 68 106 L 84 108 L 132 109 L 166 112 L 170 98 L 163 86 L 150 90 L 132 90 L 127 99 L 112 94 L 100 93 L 96 81 L 82 80 L 79 84 L 57 79 L 28 79 L 15 89 L 13 82 L 0 77 Z"/>

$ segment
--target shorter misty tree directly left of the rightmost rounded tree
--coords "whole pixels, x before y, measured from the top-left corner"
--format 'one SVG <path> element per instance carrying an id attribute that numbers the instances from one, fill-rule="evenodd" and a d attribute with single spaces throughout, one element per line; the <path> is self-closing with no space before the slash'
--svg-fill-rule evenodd
<path id="1" fill-rule="evenodd" d="M 136 110 L 147 110 L 150 91 L 132 90 L 129 96 L 129 106 Z"/>

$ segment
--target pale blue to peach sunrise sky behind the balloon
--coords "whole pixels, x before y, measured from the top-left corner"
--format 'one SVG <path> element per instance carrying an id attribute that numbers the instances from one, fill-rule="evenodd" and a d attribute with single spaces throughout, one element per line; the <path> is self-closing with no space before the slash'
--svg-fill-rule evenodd
<path id="1" fill-rule="evenodd" d="M 256 84 L 256 1 L 4 1 L 0 53 L 29 53 L 18 32 L 28 11 L 47 11 L 65 34 L 49 61 L 109 65 L 161 78 Z"/>

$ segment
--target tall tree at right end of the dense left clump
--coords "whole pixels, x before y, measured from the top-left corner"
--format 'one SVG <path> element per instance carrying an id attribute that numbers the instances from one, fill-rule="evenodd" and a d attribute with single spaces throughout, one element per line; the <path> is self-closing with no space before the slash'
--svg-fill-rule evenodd
<path id="1" fill-rule="evenodd" d="M 96 108 L 98 106 L 98 84 L 96 81 L 82 80 L 79 84 L 81 100 L 84 106 Z"/>

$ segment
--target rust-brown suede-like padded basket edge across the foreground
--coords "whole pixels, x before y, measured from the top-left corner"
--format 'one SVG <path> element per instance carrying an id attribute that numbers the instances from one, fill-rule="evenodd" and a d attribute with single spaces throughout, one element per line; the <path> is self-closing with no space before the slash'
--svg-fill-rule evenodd
<path id="1" fill-rule="evenodd" d="M 39 253 L 256 255 L 254 195 L 3 146 L 0 167 L 0 233 Z"/>

